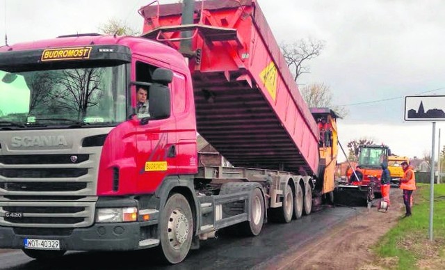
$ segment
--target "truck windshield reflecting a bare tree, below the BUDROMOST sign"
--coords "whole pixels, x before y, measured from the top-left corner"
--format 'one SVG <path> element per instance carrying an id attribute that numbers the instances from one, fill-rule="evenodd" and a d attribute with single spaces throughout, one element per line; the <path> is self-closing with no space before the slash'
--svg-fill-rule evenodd
<path id="1" fill-rule="evenodd" d="M 0 70 L 0 127 L 115 125 L 126 116 L 125 65 Z"/>

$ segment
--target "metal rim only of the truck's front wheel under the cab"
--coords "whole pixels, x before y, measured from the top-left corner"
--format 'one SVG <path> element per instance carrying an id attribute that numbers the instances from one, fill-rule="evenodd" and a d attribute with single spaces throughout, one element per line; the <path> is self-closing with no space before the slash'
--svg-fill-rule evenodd
<path id="1" fill-rule="evenodd" d="M 188 237 L 188 220 L 187 216 L 180 209 L 170 214 L 167 227 L 168 241 L 170 246 L 175 249 L 181 248 Z"/>

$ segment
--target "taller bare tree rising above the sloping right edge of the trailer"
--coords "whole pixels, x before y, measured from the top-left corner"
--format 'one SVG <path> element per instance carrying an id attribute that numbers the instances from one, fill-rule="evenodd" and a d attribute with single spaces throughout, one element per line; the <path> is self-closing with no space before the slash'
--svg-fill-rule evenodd
<path id="1" fill-rule="evenodd" d="M 287 66 L 293 74 L 293 80 L 297 81 L 303 73 L 309 73 L 307 61 L 316 58 L 325 47 L 323 40 L 300 40 L 299 42 L 284 43 L 280 45 Z"/>

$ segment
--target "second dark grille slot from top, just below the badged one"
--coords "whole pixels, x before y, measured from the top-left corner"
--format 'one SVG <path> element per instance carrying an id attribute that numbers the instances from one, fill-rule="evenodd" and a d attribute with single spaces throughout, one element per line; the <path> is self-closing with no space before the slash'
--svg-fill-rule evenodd
<path id="1" fill-rule="evenodd" d="M 0 175 L 8 178 L 74 178 L 86 175 L 87 168 L 3 168 Z"/>

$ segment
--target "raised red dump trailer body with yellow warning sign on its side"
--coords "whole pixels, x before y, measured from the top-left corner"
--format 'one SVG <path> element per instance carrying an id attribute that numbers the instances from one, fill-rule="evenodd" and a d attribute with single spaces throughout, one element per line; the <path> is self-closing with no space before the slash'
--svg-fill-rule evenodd
<path id="1" fill-rule="evenodd" d="M 256 1 L 195 2 L 140 9 L 143 36 L 180 50 L 192 33 L 197 131 L 234 166 L 318 170 L 318 127 Z M 198 55 L 197 55 L 198 54 Z"/>

